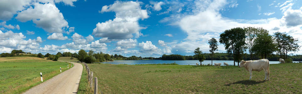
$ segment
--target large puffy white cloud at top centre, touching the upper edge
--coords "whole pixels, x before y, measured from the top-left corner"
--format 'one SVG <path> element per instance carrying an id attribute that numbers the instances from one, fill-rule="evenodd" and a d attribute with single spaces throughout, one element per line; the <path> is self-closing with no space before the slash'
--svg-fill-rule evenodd
<path id="1" fill-rule="evenodd" d="M 138 20 L 148 18 L 146 10 L 141 9 L 140 2 L 122 2 L 115 1 L 113 4 L 103 6 L 100 13 L 115 12 L 113 20 L 96 24 L 93 29 L 93 35 L 96 37 L 107 37 L 108 39 L 130 39 L 135 34 L 139 37 L 141 34 Z"/>

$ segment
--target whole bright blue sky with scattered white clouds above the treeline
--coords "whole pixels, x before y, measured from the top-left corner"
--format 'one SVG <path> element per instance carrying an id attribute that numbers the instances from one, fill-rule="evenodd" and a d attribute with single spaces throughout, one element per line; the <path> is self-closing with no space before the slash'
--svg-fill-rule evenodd
<path id="1" fill-rule="evenodd" d="M 263 27 L 302 45 L 299 0 L 2 0 L 0 53 L 94 50 L 124 56 L 193 55 L 226 29 Z M 219 44 L 218 52 L 226 52 Z M 302 54 L 302 51 L 294 52 Z"/>

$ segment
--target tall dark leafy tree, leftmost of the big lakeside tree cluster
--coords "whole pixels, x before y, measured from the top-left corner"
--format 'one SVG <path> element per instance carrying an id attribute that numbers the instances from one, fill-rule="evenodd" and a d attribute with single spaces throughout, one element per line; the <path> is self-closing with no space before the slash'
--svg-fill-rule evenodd
<path id="1" fill-rule="evenodd" d="M 238 27 L 230 30 L 225 30 L 224 33 L 220 34 L 219 42 L 224 44 L 225 50 L 238 62 L 242 59 L 241 54 L 245 51 L 245 30 Z"/>

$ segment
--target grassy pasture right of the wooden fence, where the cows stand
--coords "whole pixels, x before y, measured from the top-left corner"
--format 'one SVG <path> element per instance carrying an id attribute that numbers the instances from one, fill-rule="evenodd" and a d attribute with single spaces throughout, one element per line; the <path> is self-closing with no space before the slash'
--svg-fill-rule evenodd
<path id="1" fill-rule="evenodd" d="M 107 93 L 302 93 L 302 63 L 270 65 L 252 80 L 238 66 L 88 64 Z"/>

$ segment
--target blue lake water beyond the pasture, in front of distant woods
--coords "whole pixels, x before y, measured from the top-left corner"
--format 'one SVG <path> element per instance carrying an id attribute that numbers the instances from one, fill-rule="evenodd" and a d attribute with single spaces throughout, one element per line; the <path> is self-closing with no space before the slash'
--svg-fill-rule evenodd
<path id="1" fill-rule="evenodd" d="M 163 64 L 163 63 L 176 63 L 178 65 L 196 65 L 196 63 L 200 64 L 198 60 L 114 60 L 111 62 L 102 62 L 102 63 L 109 63 L 109 64 L 128 64 L 128 65 L 135 65 L 135 64 Z M 214 63 L 228 63 L 229 65 L 234 65 L 234 61 L 230 60 L 213 60 Z M 294 61 L 297 62 L 297 61 Z M 269 61 L 270 64 L 279 64 L 279 61 Z M 211 64 L 211 60 L 204 60 L 202 64 L 207 65 Z M 235 62 L 237 65 L 237 62 Z"/>

